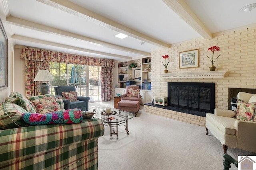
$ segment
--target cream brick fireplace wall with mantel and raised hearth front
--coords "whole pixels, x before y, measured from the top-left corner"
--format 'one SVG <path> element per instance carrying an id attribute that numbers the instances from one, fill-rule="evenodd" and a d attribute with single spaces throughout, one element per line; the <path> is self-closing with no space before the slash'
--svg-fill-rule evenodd
<path id="1" fill-rule="evenodd" d="M 256 26 L 237 28 L 215 33 L 213 39 L 192 39 L 175 43 L 170 48 L 159 48 L 151 52 L 152 97 L 166 97 L 168 82 L 214 82 L 215 107 L 230 109 L 230 99 L 236 96 L 234 89 L 256 89 Z M 219 46 L 221 56 L 216 60 L 217 68 L 210 71 L 211 63 L 206 55 L 212 45 Z M 179 68 L 180 52 L 199 49 L 199 67 Z M 161 56 L 169 55 L 169 72 L 163 74 Z M 222 72 L 223 71 L 223 72 Z M 232 92 L 233 91 L 233 92 Z M 233 94 L 232 94 L 233 93 Z M 145 106 L 145 111 L 171 119 L 204 126 L 204 117 L 179 111 Z"/>

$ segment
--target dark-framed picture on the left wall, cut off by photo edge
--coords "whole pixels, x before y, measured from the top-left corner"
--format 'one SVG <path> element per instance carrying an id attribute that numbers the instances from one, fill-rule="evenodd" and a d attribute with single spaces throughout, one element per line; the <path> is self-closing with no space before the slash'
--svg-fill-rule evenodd
<path id="1" fill-rule="evenodd" d="M 8 39 L 0 19 L 0 90 L 8 85 Z"/>

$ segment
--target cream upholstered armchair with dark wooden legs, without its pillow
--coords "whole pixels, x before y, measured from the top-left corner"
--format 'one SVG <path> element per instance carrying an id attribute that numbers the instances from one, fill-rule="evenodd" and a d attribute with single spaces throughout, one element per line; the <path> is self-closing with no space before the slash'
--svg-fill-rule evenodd
<path id="1" fill-rule="evenodd" d="M 256 102 L 256 94 L 239 92 L 237 98 L 249 103 Z M 206 113 L 206 135 L 209 129 L 222 144 L 224 153 L 229 147 L 256 152 L 256 122 L 241 121 L 233 118 L 233 115 L 234 111 L 224 109 L 215 109 L 214 114 Z"/>

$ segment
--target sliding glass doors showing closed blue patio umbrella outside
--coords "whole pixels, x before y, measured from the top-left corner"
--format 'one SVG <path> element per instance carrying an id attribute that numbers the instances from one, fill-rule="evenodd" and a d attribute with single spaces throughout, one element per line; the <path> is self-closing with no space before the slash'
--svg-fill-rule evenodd
<path id="1" fill-rule="evenodd" d="M 78 96 L 89 96 L 90 102 L 100 101 L 100 69 L 99 66 L 50 63 L 50 73 L 54 79 L 50 83 L 50 93 L 55 94 L 55 86 L 74 85 Z"/>

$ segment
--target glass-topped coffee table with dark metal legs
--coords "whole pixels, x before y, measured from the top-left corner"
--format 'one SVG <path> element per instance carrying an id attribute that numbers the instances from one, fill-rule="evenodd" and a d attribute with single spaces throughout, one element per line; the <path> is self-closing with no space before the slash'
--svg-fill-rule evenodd
<path id="1" fill-rule="evenodd" d="M 126 133 L 127 135 L 129 135 L 128 120 L 133 118 L 132 113 L 118 110 L 112 107 L 109 114 L 106 113 L 106 107 L 89 109 L 89 111 L 95 112 L 93 116 L 96 118 L 100 118 L 105 126 L 110 127 L 110 139 L 112 139 L 112 135 L 116 135 L 116 139 L 118 139 L 118 126 L 120 125 L 123 125 L 125 127 Z"/>

